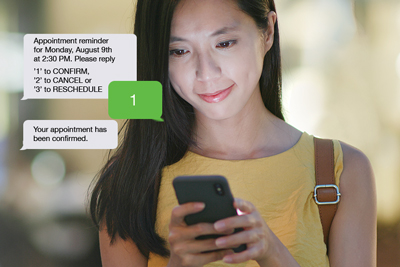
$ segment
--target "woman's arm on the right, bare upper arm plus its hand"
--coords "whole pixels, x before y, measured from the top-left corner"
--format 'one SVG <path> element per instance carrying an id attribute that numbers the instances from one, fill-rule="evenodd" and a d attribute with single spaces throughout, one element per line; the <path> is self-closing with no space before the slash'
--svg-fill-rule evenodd
<path id="1" fill-rule="evenodd" d="M 342 199 L 330 231 L 330 265 L 376 266 L 376 193 L 372 168 L 361 151 L 346 144 L 342 148 Z M 218 230 L 243 227 L 246 231 L 220 237 L 216 243 L 220 248 L 247 243 L 248 249 L 227 255 L 224 261 L 238 263 L 255 259 L 260 266 L 299 266 L 250 202 L 237 199 L 234 205 L 247 215 L 221 220 L 214 227 Z"/>

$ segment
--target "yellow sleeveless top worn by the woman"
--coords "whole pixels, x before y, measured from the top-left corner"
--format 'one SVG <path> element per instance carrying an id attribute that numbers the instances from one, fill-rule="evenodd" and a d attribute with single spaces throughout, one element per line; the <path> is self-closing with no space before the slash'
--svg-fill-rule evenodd
<path id="1" fill-rule="evenodd" d="M 336 184 L 343 170 L 343 152 L 334 141 Z M 172 208 L 178 205 L 172 180 L 179 175 L 226 177 L 232 194 L 250 201 L 267 225 L 288 248 L 300 266 L 329 266 L 315 187 L 313 136 L 303 133 L 289 150 L 271 157 L 247 160 L 221 160 L 188 151 L 177 163 L 163 169 L 158 198 L 156 231 L 167 240 Z M 166 266 L 167 258 L 150 254 L 148 267 Z M 259 266 L 256 261 L 211 266 Z"/>

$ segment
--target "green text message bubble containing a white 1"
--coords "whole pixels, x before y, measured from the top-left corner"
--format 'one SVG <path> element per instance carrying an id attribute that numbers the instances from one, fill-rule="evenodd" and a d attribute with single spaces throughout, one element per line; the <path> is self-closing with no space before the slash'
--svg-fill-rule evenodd
<path id="1" fill-rule="evenodd" d="M 164 121 L 162 85 L 157 81 L 114 81 L 108 85 L 108 115 L 113 119 Z"/>

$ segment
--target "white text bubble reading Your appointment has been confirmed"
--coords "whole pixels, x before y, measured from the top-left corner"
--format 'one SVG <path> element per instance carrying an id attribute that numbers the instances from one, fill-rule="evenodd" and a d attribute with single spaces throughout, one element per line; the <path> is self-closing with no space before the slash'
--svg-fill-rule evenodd
<path id="1" fill-rule="evenodd" d="M 28 120 L 21 150 L 113 149 L 117 145 L 118 123 L 113 120 Z"/>

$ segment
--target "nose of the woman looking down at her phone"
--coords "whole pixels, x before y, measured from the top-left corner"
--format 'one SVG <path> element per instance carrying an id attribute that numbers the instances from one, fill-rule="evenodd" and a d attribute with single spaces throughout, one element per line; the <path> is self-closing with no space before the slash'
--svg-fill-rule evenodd
<path id="1" fill-rule="evenodd" d="M 221 68 L 210 53 L 199 53 L 197 56 L 196 78 L 206 82 L 221 76 Z"/>

